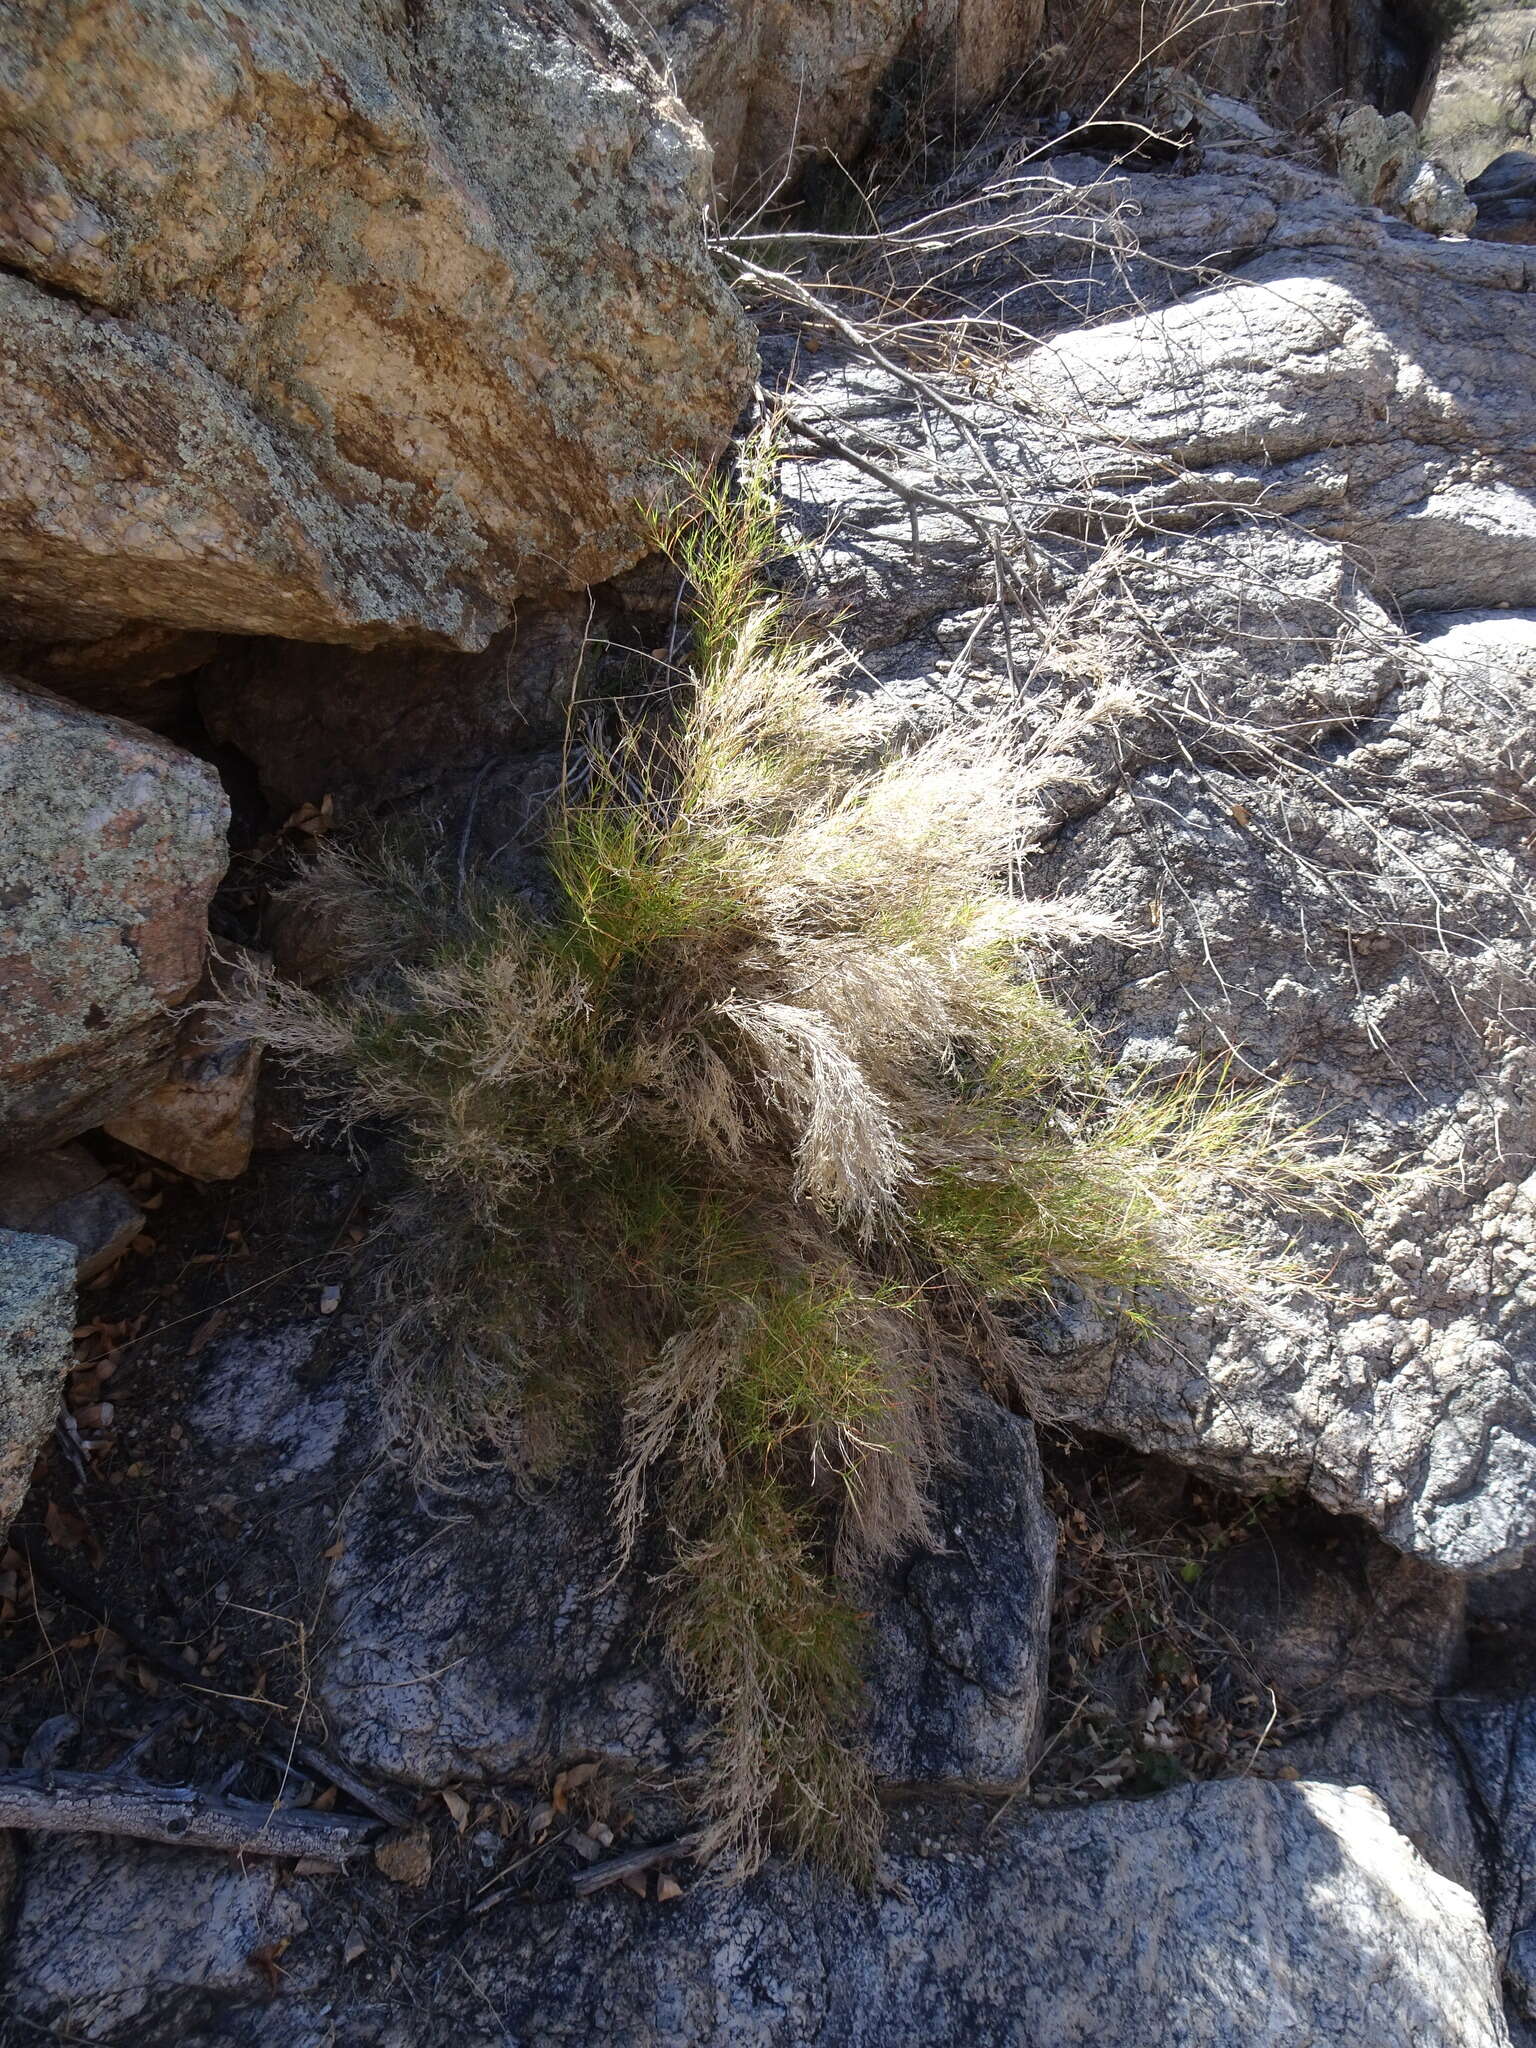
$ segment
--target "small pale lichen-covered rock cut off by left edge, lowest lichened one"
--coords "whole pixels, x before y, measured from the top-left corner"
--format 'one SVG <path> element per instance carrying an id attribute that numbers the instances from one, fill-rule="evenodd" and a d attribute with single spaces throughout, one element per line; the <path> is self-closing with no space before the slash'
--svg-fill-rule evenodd
<path id="1" fill-rule="evenodd" d="M 74 1364 L 74 1245 L 0 1231 L 0 1530 L 8 1530 Z"/>

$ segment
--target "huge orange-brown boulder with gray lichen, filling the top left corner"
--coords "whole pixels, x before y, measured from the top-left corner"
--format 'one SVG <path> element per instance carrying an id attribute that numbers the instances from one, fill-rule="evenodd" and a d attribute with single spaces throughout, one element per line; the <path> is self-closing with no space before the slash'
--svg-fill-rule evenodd
<path id="1" fill-rule="evenodd" d="M 0 565 L 35 637 L 481 647 L 637 559 L 729 432 L 707 154 L 608 6 L 12 27 Z"/>

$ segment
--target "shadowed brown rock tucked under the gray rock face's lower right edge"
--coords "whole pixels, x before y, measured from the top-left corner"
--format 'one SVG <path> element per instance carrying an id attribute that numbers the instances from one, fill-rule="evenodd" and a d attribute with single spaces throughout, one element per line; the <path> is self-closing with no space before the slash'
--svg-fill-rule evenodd
<path id="1" fill-rule="evenodd" d="M 1319 1518 L 1239 1542 L 1217 1554 L 1194 1602 L 1239 1671 L 1303 1714 L 1378 1696 L 1427 1700 L 1462 1659 L 1466 1583 L 1358 1524 Z"/>

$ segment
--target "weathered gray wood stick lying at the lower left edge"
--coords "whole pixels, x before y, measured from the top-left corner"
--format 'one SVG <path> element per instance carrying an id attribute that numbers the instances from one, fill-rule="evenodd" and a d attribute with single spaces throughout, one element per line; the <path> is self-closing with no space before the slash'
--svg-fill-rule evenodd
<path id="1" fill-rule="evenodd" d="M 176 1849 L 319 1855 L 344 1864 L 379 1833 L 352 1815 L 219 1798 L 197 1786 L 154 1786 L 111 1772 L 0 1772 L 0 1827 L 66 1835 L 133 1835 Z"/>

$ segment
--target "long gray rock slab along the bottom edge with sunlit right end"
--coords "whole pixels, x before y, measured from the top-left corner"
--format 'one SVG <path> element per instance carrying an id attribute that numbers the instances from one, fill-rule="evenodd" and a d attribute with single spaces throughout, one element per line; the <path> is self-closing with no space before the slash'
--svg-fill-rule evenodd
<path id="1" fill-rule="evenodd" d="M 1010 1821 L 889 1876 L 905 1896 L 784 1872 L 666 1915 L 608 1894 L 487 1929 L 465 1960 L 498 2021 L 551 2048 L 1507 2040 L 1477 1903 L 1366 1792 L 1188 1786 Z"/>

